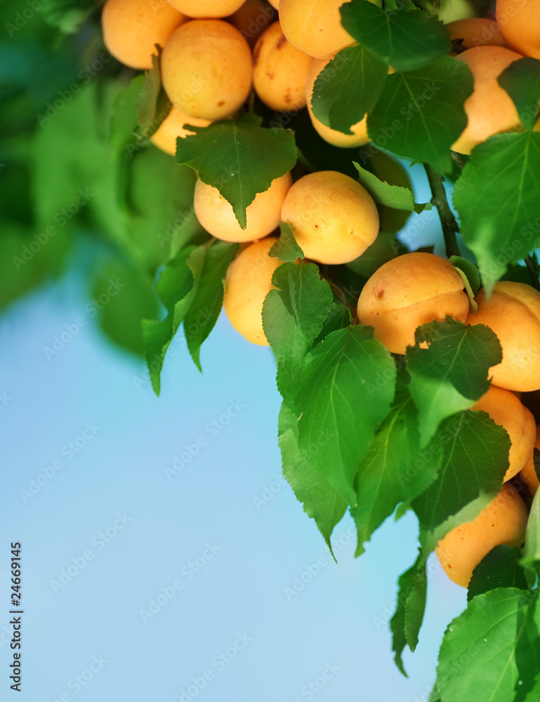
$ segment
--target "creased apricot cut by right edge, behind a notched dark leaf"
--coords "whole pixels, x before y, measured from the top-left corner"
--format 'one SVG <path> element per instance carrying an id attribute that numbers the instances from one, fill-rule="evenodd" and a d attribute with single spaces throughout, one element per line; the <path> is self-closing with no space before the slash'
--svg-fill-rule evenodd
<path id="1" fill-rule="evenodd" d="M 525 283 L 499 281 L 487 301 L 476 298 L 478 314 L 467 324 L 486 324 L 501 344 L 503 359 L 489 372 L 494 385 L 506 390 L 540 389 L 540 293 Z"/>

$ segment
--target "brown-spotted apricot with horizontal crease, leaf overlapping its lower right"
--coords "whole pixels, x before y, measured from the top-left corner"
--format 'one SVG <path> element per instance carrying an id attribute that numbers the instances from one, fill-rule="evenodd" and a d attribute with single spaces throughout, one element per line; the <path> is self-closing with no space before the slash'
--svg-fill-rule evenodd
<path id="1" fill-rule="evenodd" d="M 469 311 L 463 279 L 433 253 L 404 253 L 384 263 L 364 285 L 358 300 L 360 324 L 393 353 L 414 346 L 416 328 L 449 314 L 465 322 Z"/>

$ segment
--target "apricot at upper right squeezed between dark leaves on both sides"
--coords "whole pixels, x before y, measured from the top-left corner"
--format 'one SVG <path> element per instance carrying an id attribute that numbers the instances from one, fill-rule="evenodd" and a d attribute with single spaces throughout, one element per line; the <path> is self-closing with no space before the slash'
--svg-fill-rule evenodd
<path id="1" fill-rule="evenodd" d="M 523 58 L 503 46 L 478 46 L 463 51 L 456 61 L 463 61 L 473 72 L 474 91 L 465 101 L 468 123 L 452 150 L 470 154 L 473 147 L 499 132 L 522 131 L 518 110 L 497 78 L 513 61 Z"/>

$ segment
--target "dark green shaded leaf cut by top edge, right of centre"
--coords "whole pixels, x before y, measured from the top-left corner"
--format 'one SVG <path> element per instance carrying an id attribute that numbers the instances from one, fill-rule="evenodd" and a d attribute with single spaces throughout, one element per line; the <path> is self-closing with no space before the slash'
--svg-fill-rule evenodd
<path id="1" fill-rule="evenodd" d="M 385 12 L 367 0 L 345 3 L 340 11 L 349 34 L 396 71 L 421 68 L 452 49 L 447 27 L 426 11 Z"/>

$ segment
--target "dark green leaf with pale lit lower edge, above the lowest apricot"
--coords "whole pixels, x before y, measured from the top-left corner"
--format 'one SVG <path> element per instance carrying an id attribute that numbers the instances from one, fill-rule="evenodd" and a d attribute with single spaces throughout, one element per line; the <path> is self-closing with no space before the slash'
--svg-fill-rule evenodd
<path id="1" fill-rule="evenodd" d="M 442 451 L 439 475 L 411 505 L 420 541 L 432 550 L 451 529 L 472 522 L 499 494 L 511 442 L 486 412 L 464 411 L 445 420 L 424 454 Z"/>

